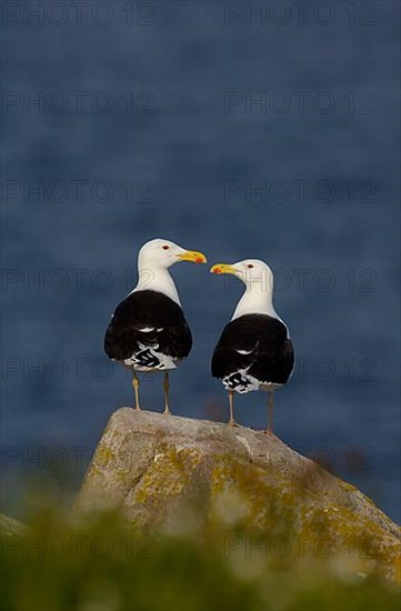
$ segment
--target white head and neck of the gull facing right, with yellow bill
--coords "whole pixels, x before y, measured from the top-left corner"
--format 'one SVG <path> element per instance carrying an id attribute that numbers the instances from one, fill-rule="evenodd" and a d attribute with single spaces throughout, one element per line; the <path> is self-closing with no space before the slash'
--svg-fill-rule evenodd
<path id="1" fill-rule="evenodd" d="M 138 284 L 134 291 L 159 291 L 180 304 L 176 284 L 169 273 L 169 268 L 179 261 L 205 263 L 202 252 L 187 250 L 170 240 L 157 238 L 150 240 L 138 254 Z"/>

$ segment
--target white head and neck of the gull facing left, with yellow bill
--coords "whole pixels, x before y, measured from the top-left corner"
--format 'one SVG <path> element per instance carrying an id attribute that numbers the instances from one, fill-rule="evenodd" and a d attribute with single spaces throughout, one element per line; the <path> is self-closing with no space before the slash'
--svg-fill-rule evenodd
<path id="1" fill-rule="evenodd" d="M 235 276 L 247 287 L 231 320 L 243 314 L 268 314 L 279 319 L 273 308 L 273 272 L 264 261 L 245 259 L 237 263 L 217 263 L 210 271 Z"/>

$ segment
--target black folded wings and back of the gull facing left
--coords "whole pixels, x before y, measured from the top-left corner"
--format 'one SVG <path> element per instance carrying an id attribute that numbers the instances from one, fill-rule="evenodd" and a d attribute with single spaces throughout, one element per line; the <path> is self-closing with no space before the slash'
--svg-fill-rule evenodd
<path id="1" fill-rule="evenodd" d="M 224 328 L 212 357 L 212 375 L 245 370 L 260 382 L 284 384 L 294 363 L 285 325 L 265 314 L 245 314 Z"/>

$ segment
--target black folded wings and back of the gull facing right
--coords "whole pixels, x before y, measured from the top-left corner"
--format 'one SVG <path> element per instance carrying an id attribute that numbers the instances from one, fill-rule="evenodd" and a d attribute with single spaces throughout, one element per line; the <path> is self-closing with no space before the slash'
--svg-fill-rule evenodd
<path id="1" fill-rule="evenodd" d="M 104 337 L 110 359 L 130 359 L 143 352 L 143 347 L 173 359 L 184 359 L 192 347 L 191 330 L 180 306 L 157 291 L 128 296 L 118 306 Z M 143 364 L 151 367 L 152 362 Z"/>

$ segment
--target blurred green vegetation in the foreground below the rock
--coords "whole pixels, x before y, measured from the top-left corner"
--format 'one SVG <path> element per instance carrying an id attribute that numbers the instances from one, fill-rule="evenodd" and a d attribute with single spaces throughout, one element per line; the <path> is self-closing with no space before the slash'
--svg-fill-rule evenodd
<path id="1" fill-rule="evenodd" d="M 7 611 L 400 609 L 397 587 L 374 568 L 364 572 L 367 551 L 334 552 L 324 533 L 310 545 L 279 515 L 264 537 L 227 525 L 193 534 L 184 522 L 174 532 L 139 532 L 116 514 L 78 523 L 49 507 L 30 517 L 29 530 L 6 523 Z"/>

